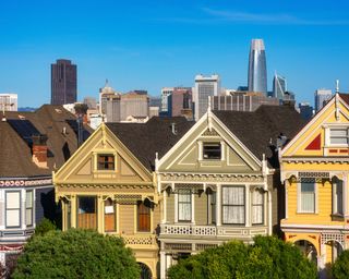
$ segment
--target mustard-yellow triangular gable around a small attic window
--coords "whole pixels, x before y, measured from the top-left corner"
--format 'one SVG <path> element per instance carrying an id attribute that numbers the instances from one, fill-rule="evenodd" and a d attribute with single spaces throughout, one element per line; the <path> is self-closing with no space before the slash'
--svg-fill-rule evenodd
<path id="1" fill-rule="evenodd" d="M 115 156 L 115 170 L 97 170 L 98 155 Z M 152 173 L 101 124 L 57 171 L 55 183 L 152 182 Z"/>

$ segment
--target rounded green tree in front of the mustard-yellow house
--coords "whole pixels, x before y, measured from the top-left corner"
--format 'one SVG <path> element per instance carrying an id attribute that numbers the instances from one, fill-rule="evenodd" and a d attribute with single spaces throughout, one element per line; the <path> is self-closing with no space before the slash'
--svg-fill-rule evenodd
<path id="1" fill-rule="evenodd" d="M 139 278 L 140 268 L 121 238 L 91 230 L 52 230 L 24 247 L 16 278 Z"/>

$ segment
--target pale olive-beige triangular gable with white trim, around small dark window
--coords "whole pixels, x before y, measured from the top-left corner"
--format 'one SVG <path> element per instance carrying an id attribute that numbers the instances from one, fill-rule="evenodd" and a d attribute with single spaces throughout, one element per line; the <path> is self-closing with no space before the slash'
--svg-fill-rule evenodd
<path id="1" fill-rule="evenodd" d="M 221 143 L 221 159 L 203 158 L 203 145 L 212 143 Z M 209 111 L 158 161 L 157 170 L 245 173 L 261 170 L 261 161 Z"/>

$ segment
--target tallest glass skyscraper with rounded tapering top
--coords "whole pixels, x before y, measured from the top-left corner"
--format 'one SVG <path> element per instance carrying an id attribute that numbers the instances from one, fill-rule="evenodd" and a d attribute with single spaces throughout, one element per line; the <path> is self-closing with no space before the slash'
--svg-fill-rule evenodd
<path id="1" fill-rule="evenodd" d="M 249 57 L 249 92 L 267 95 L 266 59 L 263 39 L 252 39 Z"/>

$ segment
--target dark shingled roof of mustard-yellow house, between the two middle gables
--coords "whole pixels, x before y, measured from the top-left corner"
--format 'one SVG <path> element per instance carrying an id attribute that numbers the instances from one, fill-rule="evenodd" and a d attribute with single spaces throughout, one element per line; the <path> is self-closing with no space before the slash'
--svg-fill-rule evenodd
<path id="1" fill-rule="evenodd" d="M 172 123 L 176 134 L 172 133 Z M 149 170 L 154 170 L 155 154 L 161 158 L 194 124 L 183 117 L 153 117 L 146 123 L 107 123 L 109 130 Z"/>

